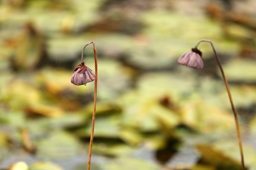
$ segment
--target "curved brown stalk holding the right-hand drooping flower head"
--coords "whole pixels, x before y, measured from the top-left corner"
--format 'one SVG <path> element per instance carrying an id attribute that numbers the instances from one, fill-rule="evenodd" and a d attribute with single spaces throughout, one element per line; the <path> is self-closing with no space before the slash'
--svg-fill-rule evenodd
<path id="1" fill-rule="evenodd" d="M 219 69 L 220 69 L 221 74 L 222 74 L 222 76 L 223 76 L 223 79 L 224 79 L 224 81 L 225 81 L 225 85 L 226 85 L 226 87 L 227 87 L 227 91 L 228 91 L 228 94 L 229 94 L 229 101 L 230 101 L 231 108 L 232 108 L 233 113 L 234 113 L 235 122 L 236 122 L 236 127 L 237 127 L 238 143 L 239 143 L 239 149 L 240 149 L 240 155 L 241 155 L 241 164 L 242 164 L 243 170 L 245 170 L 244 154 L 243 154 L 243 147 L 242 147 L 242 140 L 241 140 L 240 128 L 239 128 L 239 123 L 238 123 L 238 115 L 237 115 L 237 112 L 236 112 L 236 110 L 235 110 L 234 103 L 233 103 L 233 100 L 232 100 L 232 97 L 231 97 L 231 93 L 230 93 L 230 90 L 229 90 L 229 84 L 228 84 L 227 78 L 226 78 L 226 76 L 225 76 L 225 74 L 224 74 L 224 70 L 223 70 L 223 68 L 222 68 L 222 66 L 221 66 L 221 63 L 220 63 L 220 60 L 219 60 L 219 56 L 218 56 L 218 54 L 217 54 L 217 52 L 216 52 L 216 50 L 215 50 L 215 48 L 214 48 L 212 42 L 211 42 L 210 40 L 204 40 L 204 39 L 203 39 L 203 40 L 199 41 L 199 42 L 196 44 L 195 48 L 197 48 L 197 46 L 200 44 L 200 42 L 210 42 L 211 47 L 212 47 L 212 50 L 213 50 L 213 52 L 214 52 L 214 54 L 215 54 L 217 63 L 218 63 L 218 65 L 219 65 Z"/>

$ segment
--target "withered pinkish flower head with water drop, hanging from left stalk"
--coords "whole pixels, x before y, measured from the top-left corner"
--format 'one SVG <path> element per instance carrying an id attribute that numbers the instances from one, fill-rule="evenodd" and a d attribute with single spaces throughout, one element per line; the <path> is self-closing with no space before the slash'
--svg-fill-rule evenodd
<path id="1" fill-rule="evenodd" d="M 95 80 L 95 75 L 90 68 L 84 65 L 84 62 L 81 62 L 73 71 L 71 76 L 71 83 L 74 85 L 86 85 L 86 83 L 92 82 Z"/>

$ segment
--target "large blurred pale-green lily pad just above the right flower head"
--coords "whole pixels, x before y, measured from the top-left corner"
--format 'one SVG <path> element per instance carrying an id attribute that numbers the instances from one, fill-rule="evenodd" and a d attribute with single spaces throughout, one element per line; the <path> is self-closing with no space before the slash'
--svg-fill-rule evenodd
<path id="1" fill-rule="evenodd" d="M 221 32 L 220 25 L 206 17 L 190 17 L 167 10 L 149 10 L 142 15 L 141 20 L 147 26 L 144 30 L 146 34 L 158 36 L 178 36 L 187 40 L 187 37 L 200 39 L 201 35 L 197 34 L 199 32 L 205 37 L 219 35 Z"/>

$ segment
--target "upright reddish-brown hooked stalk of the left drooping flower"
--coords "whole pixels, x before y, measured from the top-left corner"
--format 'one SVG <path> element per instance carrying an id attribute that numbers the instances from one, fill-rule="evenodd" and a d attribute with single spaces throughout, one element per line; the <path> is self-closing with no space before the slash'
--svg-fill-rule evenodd
<path id="1" fill-rule="evenodd" d="M 90 147 L 89 147 L 89 155 L 88 155 L 88 166 L 87 170 L 90 170 L 91 167 L 91 150 L 92 150 L 92 143 L 93 143 L 93 134 L 94 134 L 94 122 L 95 122 L 95 112 L 96 112 L 96 102 L 97 102 L 97 83 L 98 83 L 98 64 L 97 64 L 97 51 L 95 48 L 94 42 L 88 42 L 83 50 L 82 50 L 82 62 L 83 61 L 83 52 L 87 45 L 93 44 L 93 51 L 94 51 L 94 63 L 95 63 L 95 82 L 94 82 L 94 101 L 93 101 L 93 112 L 92 112 L 92 121 L 91 121 L 91 139 L 90 139 Z M 82 63 L 81 62 L 81 63 Z"/>

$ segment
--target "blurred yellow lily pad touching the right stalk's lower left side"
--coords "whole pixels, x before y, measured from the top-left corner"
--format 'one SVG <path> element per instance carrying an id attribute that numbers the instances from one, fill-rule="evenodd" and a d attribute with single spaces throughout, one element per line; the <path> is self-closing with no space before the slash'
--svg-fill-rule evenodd
<path id="1" fill-rule="evenodd" d="M 201 99 L 192 98 L 180 105 L 181 122 L 204 133 L 216 133 L 234 129 L 234 118 L 226 110 L 221 110 L 213 104 L 207 104 Z"/>

